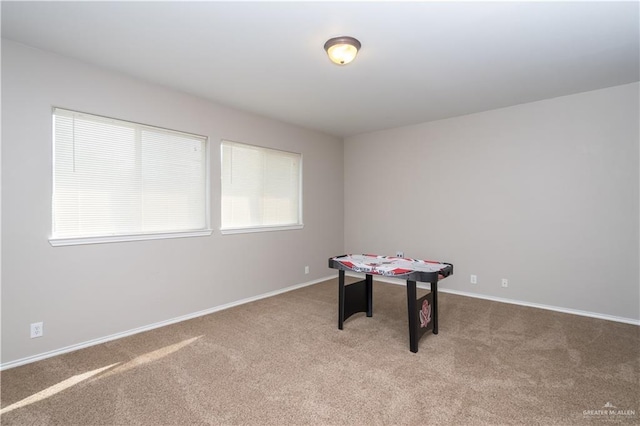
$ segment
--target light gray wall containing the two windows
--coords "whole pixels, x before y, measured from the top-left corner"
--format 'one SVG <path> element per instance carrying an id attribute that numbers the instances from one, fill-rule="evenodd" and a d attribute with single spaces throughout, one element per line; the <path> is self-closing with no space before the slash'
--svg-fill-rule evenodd
<path id="1" fill-rule="evenodd" d="M 52 106 L 207 135 L 213 235 L 51 247 Z M 222 138 L 303 154 L 304 229 L 217 231 Z M 342 191 L 339 139 L 3 40 L 2 363 L 326 277 Z"/>

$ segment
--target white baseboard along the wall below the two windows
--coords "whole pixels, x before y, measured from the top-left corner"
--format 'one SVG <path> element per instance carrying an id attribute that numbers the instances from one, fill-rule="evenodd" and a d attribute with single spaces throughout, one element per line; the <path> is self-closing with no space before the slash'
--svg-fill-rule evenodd
<path id="1" fill-rule="evenodd" d="M 68 353 L 68 352 L 77 351 L 79 349 L 88 348 L 90 346 L 99 345 L 101 343 L 110 342 L 112 340 L 121 339 L 123 337 L 131 336 L 133 334 L 143 333 L 145 331 L 153 330 L 153 329 L 160 328 L 160 327 L 165 327 L 167 325 L 175 324 L 175 323 L 182 322 L 182 321 L 187 321 L 187 320 L 190 320 L 190 319 L 193 319 L 193 318 L 197 318 L 197 317 L 201 317 L 201 316 L 204 316 L 204 315 L 209 315 L 209 314 L 212 314 L 214 312 L 223 311 L 225 309 L 233 308 L 233 307 L 238 306 L 238 305 L 244 305 L 245 303 L 254 302 L 254 301 L 260 300 L 260 299 L 266 299 L 267 297 L 276 296 L 278 294 L 282 294 L 282 293 L 286 293 L 286 292 L 289 292 L 289 291 L 293 291 L 293 290 L 296 290 L 296 289 L 299 289 L 299 288 L 302 288 L 302 287 L 307 287 L 307 286 L 310 286 L 310 285 L 313 285 L 313 284 L 318 284 L 318 283 L 330 280 L 332 278 L 335 278 L 335 276 L 329 276 L 329 277 L 324 277 L 324 278 L 320 278 L 320 279 L 313 280 L 313 281 L 307 281 L 307 282 L 304 282 L 302 284 L 296 284 L 296 285 L 293 285 L 293 286 L 290 286 L 290 287 L 281 288 L 279 290 L 270 291 L 268 293 L 260 294 L 258 296 L 248 297 L 246 299 L 237 300 L 235 302 L 231 302 L 231 303 L 227 303 L 227 304 L 224 304 L 224 305 L 215 306 L 213 308 L 205 309 L 205 310 L 198 311 L 198 312 L 193 312 L 191 314 L 182 315 L 182 316 L 179 316 L 179 317 L 176 317 L 176 318 L 172 318 L 172 319 L 168 319 L 168 320 L 165 320 L 165 321 L 156 322 L 156 323 L 145 325 L 145 326 L 138 327 L 138 328 L 133 328 L 131 330 L 123 331 L 121 333 L 115 333 L 115 334 L 111 334 L 109 336 L 99 337 L 97 339 L 92 339 L 92 340 L 88 340 L 86 342 L 78 343 L 78 344 L 75 344 L 75 345 L 66 346 L 64 348 L 55 349 L 55 350 L 48 351 L 48 352 L 43 352 L 41 354 L 29 356 L 29 357 L 26 357 L 26 358 L 21 358 L 21 359 L 15 360 L 15 361 L 9 361 L 9 362 L 6 362 L 6 363 L 1 363 L 0 364 L 0 371 L 7 370 L 7 369 L 13 368 L 13 367 L 18 367 L 18 366 L 25 365 L 25 364 L 30 364 L 30 363 L 36 362 L 36 361 L 42 361 L 43 359 L 47 359 L 47 358 L 51 358 L 51 357 L 54 357 L 54 356 L 62 355 L 62 354 Z"/>

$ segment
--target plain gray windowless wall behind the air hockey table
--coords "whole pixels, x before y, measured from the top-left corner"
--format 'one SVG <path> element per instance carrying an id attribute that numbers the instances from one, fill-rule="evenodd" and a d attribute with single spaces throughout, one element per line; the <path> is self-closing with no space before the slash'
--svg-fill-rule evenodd
<path id="1" fill-rule="evenodd" d="M 403 250 L 453 263 L 443 289 L 637 321 L 638 93 L 346 139 L 346 251 Z"/>

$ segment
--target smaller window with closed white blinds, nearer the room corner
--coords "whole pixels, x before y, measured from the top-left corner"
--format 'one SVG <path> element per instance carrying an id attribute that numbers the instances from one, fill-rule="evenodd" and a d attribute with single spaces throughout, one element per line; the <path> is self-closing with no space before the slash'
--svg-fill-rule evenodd
<path id="1" fill-rule="evenodd" d="M 302 155 L 222 141 L 223 233 L 302 228 Z"/>

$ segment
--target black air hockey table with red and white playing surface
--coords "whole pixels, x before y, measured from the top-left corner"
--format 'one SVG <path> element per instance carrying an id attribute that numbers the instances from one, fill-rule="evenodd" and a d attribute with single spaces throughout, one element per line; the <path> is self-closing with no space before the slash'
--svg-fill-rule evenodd
<path id="1" fill-rule="evenodd" d="M 338 328 L 357 312 L 373 315 L 373 275 L 407 282 L 409 350 L 418 352 L 418 341 L 427 332 L 438 334 L 438 280 L 453 274 L 453 265 L 431 260 L 374 254 L 345 254 L 329 258 L 329 268 L 338 270 Z M 365 279 L 345 285 L 345 272 L 365 274 Z M 429 283 L 430 293 L 416 299 L 416 282 Z"/>

